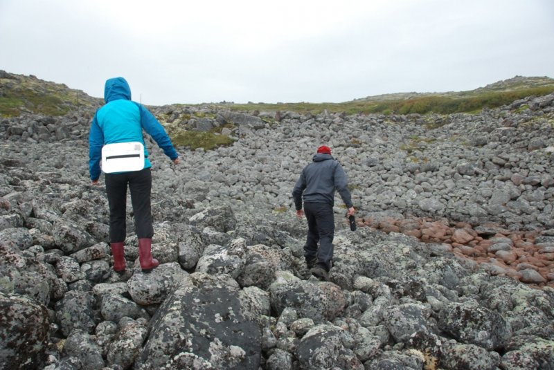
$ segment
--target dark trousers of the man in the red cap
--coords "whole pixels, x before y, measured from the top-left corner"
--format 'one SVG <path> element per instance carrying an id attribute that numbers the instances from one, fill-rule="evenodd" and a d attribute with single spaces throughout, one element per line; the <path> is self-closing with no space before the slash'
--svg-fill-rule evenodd
<path id="1" fill-rule="evenodd" d="M 304 203 L 304 214 L 307 219 L 304 257 L 306 259 L 316 257 L 316 263 L 330 270 L 334 237 L 333 206 L 328 203 Z"/>

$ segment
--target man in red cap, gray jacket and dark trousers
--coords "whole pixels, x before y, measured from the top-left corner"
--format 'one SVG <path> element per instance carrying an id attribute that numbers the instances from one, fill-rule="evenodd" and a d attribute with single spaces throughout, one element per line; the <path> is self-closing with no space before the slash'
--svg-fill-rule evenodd
<path id="1" fill-rule="evenodd" d="M 340 163 L 331 156 L 331 148 L 322 145 L 317 149 L 312 163 L 302 170 L 292 191 L 296 216 L 305 214 L 307 219 L 308 231 L 304 245 L 306 265 L 312 275 L 321 280 L 328 280 L 332 267 L 335 189 L 348 207 L 348 216 L 354 215 L 348 177 Z"/>

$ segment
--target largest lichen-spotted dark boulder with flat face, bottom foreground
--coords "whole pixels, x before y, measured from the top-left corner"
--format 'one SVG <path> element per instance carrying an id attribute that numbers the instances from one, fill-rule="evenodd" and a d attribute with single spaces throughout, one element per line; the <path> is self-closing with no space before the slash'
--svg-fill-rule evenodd
<path id="1" fill-rule="evenodd" d="M 258 370 L 261 328 L 246 318 L 239 291 L 229 275 L 184 277 L 152 317 L 135 368 Z"/>

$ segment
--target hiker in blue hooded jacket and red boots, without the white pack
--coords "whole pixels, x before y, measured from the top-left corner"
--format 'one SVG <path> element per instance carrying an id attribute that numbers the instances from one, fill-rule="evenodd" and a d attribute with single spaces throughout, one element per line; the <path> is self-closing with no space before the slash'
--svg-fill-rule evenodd
<path id="1" fill-rule="evenodd" d="M 175 165 L 179 154 L 158 120 L 142 104 L 131 100 L 131 89 L 123 77 L 110 78 L 104 88 L 102 106 L 91 122 L 89 131 L 89 172 L 93 185 L 100 178 L 102 147 L 107 144 L 140 142 L 144 145 L 143 130 L 163 149 Z M 139 163 L 140 164 L 140 163 Z M 127 187 L 131 193 L 135 232 L 139 238 L 139 261 L 143 272 L 150 272 L 159 265 L 152 258 L 152 211 L 150 194 L 152 190 L 152 164 L 148 151 L 144 149 L 144 166 L 138 171 L 124 171 L 105 174 L 106 193 L 109 203 L 109 244 L 114 256 L 114 270 L 125 272 L 126 202 Z"/>

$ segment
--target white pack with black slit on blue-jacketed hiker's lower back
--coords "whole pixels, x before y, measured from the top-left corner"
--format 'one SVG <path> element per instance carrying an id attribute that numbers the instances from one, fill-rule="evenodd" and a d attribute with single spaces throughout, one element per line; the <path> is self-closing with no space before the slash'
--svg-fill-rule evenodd
<path id="1" fill-rule="evenodd" d="M 140 171 L 144 168 L 144 145 L 142 142 L 116 142 L 102 147 L 102 171 Z"/>

